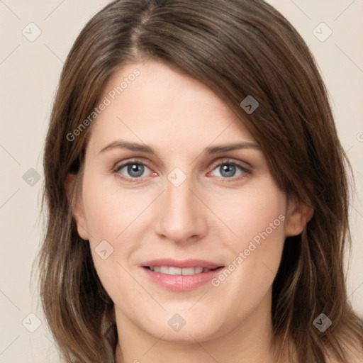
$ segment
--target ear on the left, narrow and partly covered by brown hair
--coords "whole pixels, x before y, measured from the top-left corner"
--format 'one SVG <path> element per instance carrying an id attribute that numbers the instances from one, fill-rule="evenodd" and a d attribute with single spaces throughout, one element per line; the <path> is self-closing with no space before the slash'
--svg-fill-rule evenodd
<path id="1" fill-rule="evenodd" d="M 89 233 L 86 230 L 86 218 L 80 196 L 76 190 L 77 175 L 68 174 L 65 179 L 65 191 L 69 205 L 72 206 L 72 214 L 77 223 L 77 232 L 82 240 L 89 240 Z"/>

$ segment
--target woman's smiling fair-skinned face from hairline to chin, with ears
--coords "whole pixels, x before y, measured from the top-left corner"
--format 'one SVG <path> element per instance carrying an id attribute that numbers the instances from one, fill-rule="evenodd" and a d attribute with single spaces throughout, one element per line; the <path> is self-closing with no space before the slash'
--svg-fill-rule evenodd
<path id="1" fill-rule="evenodd" d="M 204 341 L 268 313 L 284 240 L 305 220 L 252 135 L 160 62 L 125 65 L 105 97 L 74 217 L 118 323 Z"/>

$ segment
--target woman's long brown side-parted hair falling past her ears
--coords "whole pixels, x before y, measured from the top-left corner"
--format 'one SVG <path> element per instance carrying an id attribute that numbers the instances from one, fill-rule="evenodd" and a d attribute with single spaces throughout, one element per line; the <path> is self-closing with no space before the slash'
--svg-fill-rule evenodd
<path id="1" fill-rule="evenodd" d="M 40 253 L 43 308 L 66 359 L 114 362 L 113 302 L 96 274 L 89 244 L 77 234 L 67 174 L 82 183 L 94 110 L 104 84 L 126 62 L 155 59 L 212 89 L 262 147 L 286 193 L 314 209 L 303 233 L 286 238 L 273 284 L 275 342 L 292 339 L 301 362 L 347 363 L 345 344 L 362 345 L 362 319 L 347 301 L 343 254 L 350 243 L 345 158 L 308 47 L 262 0 L 120 0 L 86 24 L 62 70 L 45 145 L 48 224 Z M 259 102 L 247 115 L 240 102 Z M 324 333 L 313 320 L 325 313 Z M 111 324 L 104 333 L 103 324 Z"/>

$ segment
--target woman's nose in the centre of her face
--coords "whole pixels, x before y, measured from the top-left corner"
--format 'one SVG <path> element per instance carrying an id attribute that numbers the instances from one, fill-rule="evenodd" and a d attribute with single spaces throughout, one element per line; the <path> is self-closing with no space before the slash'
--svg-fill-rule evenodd
<path id="1" fill-rule="evenodd" d="M 206 206 L 196 197 L 189 178 L 179 186 L 166 181 L 164 193 L 158 199 L 155 233 L 173 242 L 191 242 L 207 233 Z"/>

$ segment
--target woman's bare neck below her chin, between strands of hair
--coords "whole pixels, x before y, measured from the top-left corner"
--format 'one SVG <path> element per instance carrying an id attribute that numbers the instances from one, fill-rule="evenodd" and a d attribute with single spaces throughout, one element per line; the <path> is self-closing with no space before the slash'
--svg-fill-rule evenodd
<path id="1" fill-rule="evenodd" d="M 133 324 L 117 307 L 118 343 L 116 363 L 273 363 L 271 293 L 260 306 L 232 330 L 198 342 L 162 340 Z M 289 362 L 289 361 L 286 361 Z"/>

